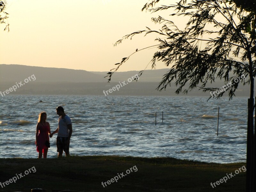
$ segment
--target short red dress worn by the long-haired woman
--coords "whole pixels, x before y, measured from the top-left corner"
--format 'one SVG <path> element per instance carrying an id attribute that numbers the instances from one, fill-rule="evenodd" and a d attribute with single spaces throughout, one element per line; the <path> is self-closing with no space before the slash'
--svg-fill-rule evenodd
<path id="1" fill-rule="evenodd" d="M 49 140 L 49 134 L 50 132 L 50 127 L 48 125 L 42 125 L 39 127 L 39 133 L 37 135 L 37 143 L 38 146 L 36 147 L 36 151 L 39 152 L 39 149 L 48 149 L 45 145 L 45 141 L 50 141 Z"/>

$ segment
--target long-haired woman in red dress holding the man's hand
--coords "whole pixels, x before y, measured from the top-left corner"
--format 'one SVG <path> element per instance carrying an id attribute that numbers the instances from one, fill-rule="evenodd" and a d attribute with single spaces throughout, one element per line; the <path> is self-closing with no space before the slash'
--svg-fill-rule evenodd
<path id="1" fill-rule="evenodd" d="M 49 140 L 49 134 L 51 134 L 50 124 L 46 122 L 46 112 L 41 112 L 38 117 L 38 123 L 36 125 L 36 151 L 39 152 L 38 158 L 47 158 L 48 147 L 45 145 Z"/>

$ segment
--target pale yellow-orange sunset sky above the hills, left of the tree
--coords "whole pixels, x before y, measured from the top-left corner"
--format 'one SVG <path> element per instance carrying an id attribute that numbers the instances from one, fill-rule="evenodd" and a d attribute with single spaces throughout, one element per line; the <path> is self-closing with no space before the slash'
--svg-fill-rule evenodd
<path id="1" fill-rule="evenodd" d="M 176 0 L 173 0 L 173 3 Z M 0 64 L 109 71 L 137 48 L 155 45 L 156 35 L 124 35 L 160 27 L 152 17 L 170 12 L 141 12 L 148 0 L 7 0 L 10 32 L 0 26 Z M 170 4 L 162 0 L 161 4 Z M 173 18 L 175 21 L 175 18 Z M 177 20 L 182 23 L 182 20 Z M 156 49 L 137 52 L 119 71 L 142 70 Z M 157 69 L 166 68 L 162 63 Z M 150 69 L 148 66 L 147 69 Z"/>

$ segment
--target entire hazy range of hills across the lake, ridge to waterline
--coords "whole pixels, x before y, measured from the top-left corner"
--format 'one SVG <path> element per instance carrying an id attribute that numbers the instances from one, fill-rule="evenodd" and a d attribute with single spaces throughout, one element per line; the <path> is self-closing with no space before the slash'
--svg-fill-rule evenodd
<path id="1" fill-rule="evenodd" d="M 114 91 L 109 95 L 176 95 L 177 87 L 172 82 L 171 87 L 167 87 L 166 91 L 157 91 L 156 88 L 161 82 L 164 74 L 169 69 L 145 70 L 140 76 L 138 82 L 132 81 L 121 87 L 119 91 Z M 115 72 L 108 83 L 108 72 L 89 72 L 85 70 L 74 70 L 65 68 L 44 68 L 24 65 L 5 65 L 0 64 L 0 91 L 5 91 L 16 84 L 16 82 L 24 83 L 24 80 L 31 75 L 35 75 L 36 80 L 28 82 L 18 88 L 15 92 L 9 94 L 58 94 L 58 95 L 104 95 L 103 91 L 107 91 L 112 87 L 120 84 L 139 74 L 140 71 Z M 224 85 L 224 81 L 216 79 L 215 83 L 208 84 L 207 87 L 220 88 Z M 186 85 L 182 90 L 188 89 Z M 236 96 L 249 97 L 249 85 L 239 85 L 236 90 Z M 225 93 L 224 95 L 228 95 Z M 177 95 L 176 95 L 177 96 Z M 178 96 L 184 96 L 180 94 Z M 186 95 L 185 95 L 186 96 Z M 210 96 L 209 92 L 195 89 L 188 92 L 188 96 Z M 0 96 L 1 98 L 1 96 Z"/>

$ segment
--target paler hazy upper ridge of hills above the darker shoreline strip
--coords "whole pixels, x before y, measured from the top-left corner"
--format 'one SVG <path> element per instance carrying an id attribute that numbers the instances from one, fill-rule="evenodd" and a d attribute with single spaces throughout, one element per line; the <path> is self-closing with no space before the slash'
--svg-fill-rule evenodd
<path id="1" fill-rule="evenodd" d="M 145 70 L 140 77 L 140 82 L 160 82 L 163 75 L 169 69 Z M 112 82 L 127 80 L 139 74 L 140 71 L 115 72 Z M 107 82 L 106 72 L 89 72 L 85 70 L 46 68 L 25 65 L 5 65 L 0 64 L 0 82 L 17 82 L 24 80 L 28 76 L 35 75 L 36 82 Z"/>

